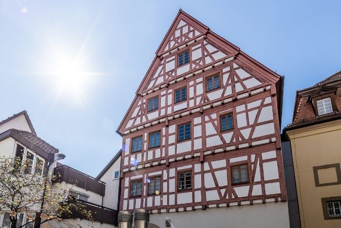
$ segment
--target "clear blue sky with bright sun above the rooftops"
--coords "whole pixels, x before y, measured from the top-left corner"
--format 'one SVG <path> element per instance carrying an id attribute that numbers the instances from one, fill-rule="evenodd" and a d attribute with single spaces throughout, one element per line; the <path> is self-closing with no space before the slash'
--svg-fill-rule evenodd
<path id="1" fill-rule="evenodd" d="M 340 1 L 0 0 L 0 120 L 27 110 L 64 164 L 96 176 L 180 7 L 285 76 L 283 126 L 296 90 L 341 70 Z M 61 59 L 84 79 L 61 89 Z"/>

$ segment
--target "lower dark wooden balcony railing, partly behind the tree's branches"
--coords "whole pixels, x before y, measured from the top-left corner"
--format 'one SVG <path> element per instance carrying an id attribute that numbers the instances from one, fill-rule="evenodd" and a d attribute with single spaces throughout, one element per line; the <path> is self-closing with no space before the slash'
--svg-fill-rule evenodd
<path id="1" fill-rule="evenodd" d="M 114 210 L 108 207 L 103 207 L 97 204 L 93 204 L 84 200 L 77 200 L 77 201 L 80 201 L 83 203 L 83 205 L 85 206 L 84 209 L 92 212 L 94 221 L 100 222 L 101 224 L 106 223 L 106 224 L 114 225 L 115 227 L 118 226 L 117 224 L 118 211 L 117 210 Z M 77 211 L 73 211 L 72 216 L 68 216 L 65 218 L 71 218 L 71 217 L 83 219 L 82 214 Z"/>

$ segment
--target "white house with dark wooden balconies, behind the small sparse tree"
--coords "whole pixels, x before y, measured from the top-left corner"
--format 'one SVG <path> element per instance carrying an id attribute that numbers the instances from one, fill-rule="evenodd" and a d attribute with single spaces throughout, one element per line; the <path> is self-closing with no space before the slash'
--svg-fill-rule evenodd
<path id="1" fill-rule="evenodd" d="M 16 128 L 16 129 L 14 129 Z M 22 154 L 23 151 L 23 155 Z M 32 160 L 32 173 L 41 175 L 54 171 L 57 176 L 56 185 L 68 185 L 70 194 L 81 200 L 88 210 L 93 212 L 94 222 L 88 220 L 67 219 L 75 226 L 94 228 L 114 228 L 117 226 L 117 198 L 118 181 L 110 168 L 101 172 L 100 180 L 82 173 L 72 167 L 60 164 L 65 155 L 57 148 L 39 138 L 26 111 L 22 111 L 0 122 L 0 156 L 21 157 L 21 160 Z M 29 157 L 30 156 L 30 157 Z M 119 160 L 120 153 L 115 156 Z M 39 169 L 38 162 L 43 162 L 43 169 Z M 117 165 L 118 164 L 118 165 Z M 115 170 L 119 170 L 120 162 L 113 163 Z M 57 174 L 60 174 L 57 175 Z M 111 176 L 112 179 L 110 177 Z M 118 174 L 116 173 L 116 176 Z M 106 183 L 108 183 L 108 187 Z M 30 212 L 34 213 L 34 211 Z M 76 216 L 76 214 L 75 214 Z M 26 212 L 19 215 L 19 223 L 25 224 Z M 0 213 L 0 227 L 8 226 L 8 213 Z M 63 227 L 62 224 L 51 223 L 52 227 Z"/>

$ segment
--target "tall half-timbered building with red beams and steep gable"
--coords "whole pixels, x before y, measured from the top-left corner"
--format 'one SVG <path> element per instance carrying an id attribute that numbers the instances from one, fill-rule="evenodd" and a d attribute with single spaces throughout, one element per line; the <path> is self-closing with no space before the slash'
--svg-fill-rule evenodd
<path id="1" fill-rule="evenodd" d="M 120 210 L 159 227 L 289 227 L 283 83 L 180 10 L 117 130 Z"/>

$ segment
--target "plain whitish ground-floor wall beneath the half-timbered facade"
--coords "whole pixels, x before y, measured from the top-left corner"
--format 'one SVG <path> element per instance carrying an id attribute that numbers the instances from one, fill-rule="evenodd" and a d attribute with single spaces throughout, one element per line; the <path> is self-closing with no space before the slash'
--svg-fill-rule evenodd
<path id="1" fill-rule="evenodd" d="M 150 216 L 150 222 L 160 228 L 166 228 L 166 219 L 170 219 L 172 228 L 289 228 L 286 202 L 155 213 Z"/>

